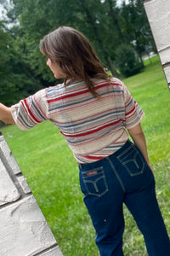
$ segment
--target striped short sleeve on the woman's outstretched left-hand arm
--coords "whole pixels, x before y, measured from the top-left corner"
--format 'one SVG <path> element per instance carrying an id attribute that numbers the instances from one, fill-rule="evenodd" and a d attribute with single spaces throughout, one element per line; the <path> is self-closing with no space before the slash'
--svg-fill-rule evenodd
<path id="1" fill-rule="evenodd" d="M 39 90 L 33 96 L 29 96 L 13 105 L 11 113 L 15 124 L 21 130 L 29 130 L 47 120 L 48 103 L 46 100 L 46 90 Z"/>

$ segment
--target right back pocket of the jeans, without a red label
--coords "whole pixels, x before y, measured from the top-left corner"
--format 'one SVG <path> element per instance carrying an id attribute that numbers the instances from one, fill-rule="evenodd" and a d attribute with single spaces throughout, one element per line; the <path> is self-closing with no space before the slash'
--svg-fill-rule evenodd
<path id="1" fill-rule="evenodd" d="M 118 155 L 117 159 L 122 163 L 122 166 L 131 177 L 144 172 L 144 157 L 134 145 L 131 145 L 122 154 Z"/>

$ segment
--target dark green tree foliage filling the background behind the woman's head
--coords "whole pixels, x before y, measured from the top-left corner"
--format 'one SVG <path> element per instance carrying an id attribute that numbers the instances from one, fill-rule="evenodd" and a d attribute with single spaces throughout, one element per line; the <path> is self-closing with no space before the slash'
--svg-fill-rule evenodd
<path id="1" fill-rule="evenodd" d="M 0 4 L 5 6 L 5 2 L 1 0 Z M 39 41 L 58 26 L 73 26 L 83 32 L 115 76 L 125 75 L 122 67 L 126 65 L 130 69 L 126 75 L 131 75 L 131 64 L 136 68 L 135 63 L 140 62 L 139 72 L 142 55 L 155 50 L 141 0 L 129 0 L 128 4 L 124 1 L 122 6 L 117 6 L 116 0 L 11 0 L 10 3 L 11 8 L 6 8 L 8 20 L 0 23 L 0 102 L 8 105 L 56 83 L 39 51 Z M 127 45 L 129 60 L 135 56 L 131 64 L 124 58 L 124 63 L 119 61 L 122 45 Z"/>

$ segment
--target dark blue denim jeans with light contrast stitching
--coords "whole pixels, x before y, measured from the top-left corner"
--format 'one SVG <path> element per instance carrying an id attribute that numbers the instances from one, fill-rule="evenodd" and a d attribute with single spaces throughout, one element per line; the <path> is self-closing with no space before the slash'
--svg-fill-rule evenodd
<path id="1" fill-rule="evenodd" d="M 101 256 L 122 256 L 126 204 L 144 236 L 150 256 L 170 256 L 170 241 L 155 192 L 155 178 L 133 143 L 91 164 L 80 164 L 84 202 L 96 230 Z"/>

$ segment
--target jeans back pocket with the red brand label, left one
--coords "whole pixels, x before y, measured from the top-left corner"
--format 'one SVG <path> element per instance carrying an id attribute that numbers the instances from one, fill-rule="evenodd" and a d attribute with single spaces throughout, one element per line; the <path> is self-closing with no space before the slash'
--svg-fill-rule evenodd
<path id="1" fill-rule="evenodd" d="M 103 167 L 82 171 L 82 182 L 88 195 L 102 196 L 109 190 Z"/>

